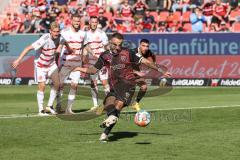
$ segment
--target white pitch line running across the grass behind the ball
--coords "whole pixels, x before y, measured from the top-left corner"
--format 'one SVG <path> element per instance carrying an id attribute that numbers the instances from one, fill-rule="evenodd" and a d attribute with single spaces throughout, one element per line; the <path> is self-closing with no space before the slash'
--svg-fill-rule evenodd
<path id="1" fill-rule="evenodd" d="M 224 105 L 224 106 L 208 106 L 208 107 L 185 107 L 185 108 L 170 108 L 170 109 L 147 109 L 148 112 L 154 111 L 174 111 L 174 110 L 186 110 L 186 109 L 214 109 L 214 108 L 231 108 L 240 107 L 240 105 Z M 122 113 L 134 113 L 136 111 L 123 111 Z M 9 114 L 0 115 L 0 119 L 14 119 L 14 118 L 34 118 L 34 117 L 54 117 L 55 115 L 39 116 L 38 114 Z"/>

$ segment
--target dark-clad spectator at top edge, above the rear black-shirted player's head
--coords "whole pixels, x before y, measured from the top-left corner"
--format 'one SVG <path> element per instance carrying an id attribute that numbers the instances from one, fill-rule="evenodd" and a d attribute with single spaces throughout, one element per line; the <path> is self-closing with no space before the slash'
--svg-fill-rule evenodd
<path id="1" fill-rule="evenodd" d="M 133 5 L 134 16 L 136 19 L 140 19 L 145 16 L 145 11 L 149 9 L 148 5 L 145 3 L 145 0 L 137 0 Z"/>

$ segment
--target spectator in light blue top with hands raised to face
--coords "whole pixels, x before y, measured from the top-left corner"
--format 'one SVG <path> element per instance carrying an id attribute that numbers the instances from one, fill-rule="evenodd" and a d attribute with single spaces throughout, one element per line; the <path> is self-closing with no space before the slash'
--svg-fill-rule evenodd
<path id="1" fill-rule="evenodd" d="M 206 22 L 206 18 L 202 14 L 201 8 L 194 9 L 194 13 L 190 15 L 190 21 L 192 23 L 192 32 L 203 32 L 203 24 Z"/>

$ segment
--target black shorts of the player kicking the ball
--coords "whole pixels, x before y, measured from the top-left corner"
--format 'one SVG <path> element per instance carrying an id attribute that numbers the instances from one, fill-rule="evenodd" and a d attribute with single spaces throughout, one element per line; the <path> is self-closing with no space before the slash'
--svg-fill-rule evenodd
<path id="1" fill-rule="evenodd" d="M 134 92 L 135 85 L 118 82 L 114 85 L 113 88 L 111 88 L 110 92 L 105 97 L 105 100 L 110 96 L 114 96 L 116 100 L 122 101 L 124 103 L 124 106 L 128 106 L 132 102 Z M 105 100 L 103 104 L 105 104 Z"/>

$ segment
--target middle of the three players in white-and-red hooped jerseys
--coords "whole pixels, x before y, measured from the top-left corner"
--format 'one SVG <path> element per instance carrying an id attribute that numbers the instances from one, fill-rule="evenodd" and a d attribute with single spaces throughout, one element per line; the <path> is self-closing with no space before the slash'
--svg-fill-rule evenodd
<path id="1" fill-rule="evenodd" d="M 76 97 L 76 91 L 78 86 L 78 81 L 80 79 L 80 72 L 72 70 L 77 66 L 82 66 L 82 47 L 85 38 L 85 32 L 80 30 L 81 18 L 78 14 L 72 15 L 72 25 L 71 27 L 61 31 L 61 35 L 66 40 L 67 44 L 71 48 L 71 51 L 63 48 L 61 54 L 61 69 L 59 72 L 60 77 L 60 92 L 57 96 L 57 110 L 60 110 L 61 102 L 60 97 L 62 94 L 64 81 L 67 77 L 71 79 L 70 91 L 68 94 L 68 103 L 65 109 L 66 114 L 74 114 L 72 112 L 72 105 Z"/>

